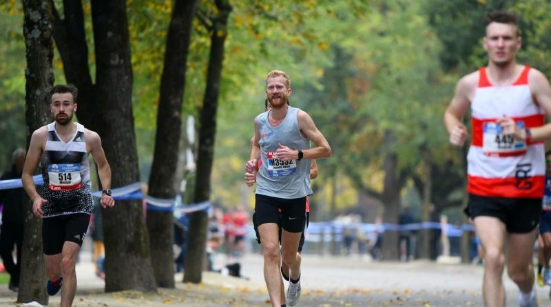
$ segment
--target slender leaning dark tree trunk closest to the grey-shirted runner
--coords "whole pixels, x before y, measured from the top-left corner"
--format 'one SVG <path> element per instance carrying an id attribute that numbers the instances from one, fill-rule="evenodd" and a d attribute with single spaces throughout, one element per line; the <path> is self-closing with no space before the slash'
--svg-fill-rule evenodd
<path id="1" fill-rule="evenodd" d="M 224 43 L 227 37 L 227 20 L 231 12 L 228 0 L 216 0 L 218 14 L 212 18 L 211 53 L 207 71 L 207 88 L 200 115 L 199 150 L 194 202 L 208 201 L 211 193 L 211 170 L 214 158 L 214 140 L 216 137 L 216 110 L 222 77 Z M 191 214 L 189 226 L 189 245 L 185 259 L 184 282 L 200 283 L 202 279 L 205 244 L 207 243 L 207 212 Z"/>

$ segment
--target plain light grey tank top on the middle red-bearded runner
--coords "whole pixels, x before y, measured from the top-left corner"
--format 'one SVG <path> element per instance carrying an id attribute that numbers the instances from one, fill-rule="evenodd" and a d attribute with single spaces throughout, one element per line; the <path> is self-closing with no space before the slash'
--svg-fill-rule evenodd
<path id="1" fill-rule="evenodd" d="M 268 112 L 258 115 L 260 130 L 260 155 L 262 165 L 256 175 L 256 194 L 284 199 L 295 199 L 312 194 L 310 187 L 309 159 L 281 161 L 275 159 L 272 152 L 279 144 L 293 150 L 310 148 L 310 140 L 303 137 L 298 128 L 298 111 L 291 106 L 287 115 L 278 126 L 271 126 Z"/>

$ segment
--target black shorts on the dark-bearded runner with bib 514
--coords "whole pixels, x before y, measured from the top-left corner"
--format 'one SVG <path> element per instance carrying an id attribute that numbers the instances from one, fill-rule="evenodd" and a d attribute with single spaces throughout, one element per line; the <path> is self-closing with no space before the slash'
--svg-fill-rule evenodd
<path id="1" fill-rule="evenodd" d="M 61 253 L 65 241 L 82 246 L 90 223 L 87 213 L 59 215 L 42 219 L 42 248 L 45 255 Z"/>

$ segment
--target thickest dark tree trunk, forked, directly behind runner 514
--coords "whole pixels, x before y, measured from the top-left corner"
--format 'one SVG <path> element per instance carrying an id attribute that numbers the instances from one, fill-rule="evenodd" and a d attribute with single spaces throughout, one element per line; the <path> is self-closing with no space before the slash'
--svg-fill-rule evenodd
<path id="1" fill-rule="evenodd" d="M 125 1 L 92 1 L 96 84 L 92 83 L 81 1 L 64 0 L 55 39 L 68 82 L 79 88 L 79 121 L 102 138 L 112 187 L 139 181 L 132 115 L 132 64 Z M 156 290 L 141 201 L 103 210 L 105 290 Z"/>

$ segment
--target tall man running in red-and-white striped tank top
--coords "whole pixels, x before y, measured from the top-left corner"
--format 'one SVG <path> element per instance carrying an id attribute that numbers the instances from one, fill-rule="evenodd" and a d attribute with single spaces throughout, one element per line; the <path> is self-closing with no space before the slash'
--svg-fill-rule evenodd
<path id="1" fill-rule="evenodd" d="M 489 12 L 488 66 L 459 80 L 444 114 L 450 142 L 463 146 L 468 132 L 461 120 L 471 108 L 466 212 L 484 248 L 486 306 L 506 306 L 505 264 L 520 306 L 537 306 L 532 254 L 545 180 L 543 140 L 551 137 L 545 124 L 551 87 L 541 72 L 517 64 L 519 48 L 516 14 Z"/>

